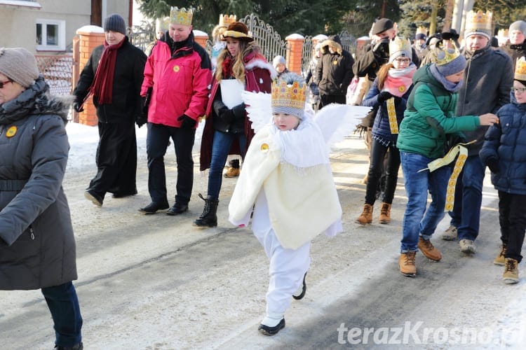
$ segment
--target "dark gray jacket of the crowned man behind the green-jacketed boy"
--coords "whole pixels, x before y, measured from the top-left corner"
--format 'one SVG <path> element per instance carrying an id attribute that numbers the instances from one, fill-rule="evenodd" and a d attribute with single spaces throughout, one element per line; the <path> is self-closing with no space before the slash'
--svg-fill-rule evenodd
<path id="1" fill-rule="evenodd" d="M 480 116 L 497 111 L 510 102 L 510 88 L 513 84 L 511 59 L 501 50 L 494 50 L 490 44 L 475 52 L 464 52 L 468 60 L 464 71 L 464 85 L 459 90 L 457 116 Z M 487 126 L 464 132 L 466 141 L 477 140 L 468 146 L 468 155 L 478 155 L 484 142 Z"/>

